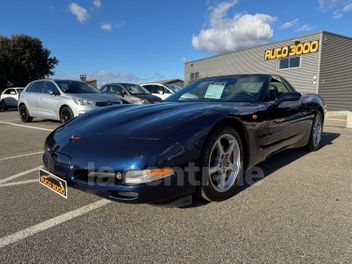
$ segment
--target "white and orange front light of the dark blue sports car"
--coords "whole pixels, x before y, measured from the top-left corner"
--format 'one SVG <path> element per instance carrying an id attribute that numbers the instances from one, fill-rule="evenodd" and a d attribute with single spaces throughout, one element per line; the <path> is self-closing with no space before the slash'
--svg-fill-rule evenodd
<path id="1" fill-rule="evenodd" d="M 128 171 L 125 174 L 125 183 L 140 184 L 156 181 L 174 174 L 170 168 Z"/>

